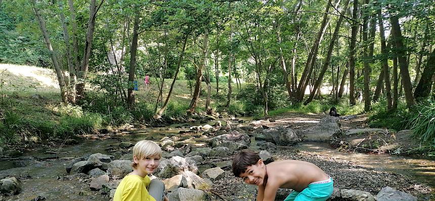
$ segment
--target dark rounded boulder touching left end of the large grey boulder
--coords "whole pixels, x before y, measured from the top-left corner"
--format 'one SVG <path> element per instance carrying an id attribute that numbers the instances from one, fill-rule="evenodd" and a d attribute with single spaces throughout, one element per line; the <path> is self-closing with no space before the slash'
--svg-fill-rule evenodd
<path id="1" fill-rule="evenodd" d="M 270 127 L 262 132 L 267 142 L 281 146 L 297 144 L 300 141 L 293 129 L 283 126 Z"/>

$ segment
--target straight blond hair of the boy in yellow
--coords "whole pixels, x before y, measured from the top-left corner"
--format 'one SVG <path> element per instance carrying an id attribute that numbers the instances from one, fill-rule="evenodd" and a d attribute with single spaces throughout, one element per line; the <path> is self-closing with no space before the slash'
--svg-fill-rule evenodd
<path id="1" fill-rule="evenodd" d="M 136 143 L 135 147 L 133 148 L 133 157 L 136 156 L 136 158 L 144 159 L 150 156 L 158 156 L 159 158 L 162 157 L 162 150 L 160 146 L 158 146 L 155 142 L 149 141 L 149 140 L 143 140 Z M 135 163 L 133 160 L 132 167 L 133 169 L 136 169 L 136 166 L 138 164 Z"/>

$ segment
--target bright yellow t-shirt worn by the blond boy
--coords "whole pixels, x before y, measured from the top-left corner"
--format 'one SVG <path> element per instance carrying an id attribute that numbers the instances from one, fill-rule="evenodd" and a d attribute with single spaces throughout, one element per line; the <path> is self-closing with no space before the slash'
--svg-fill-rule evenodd
<path id="1" fill-rule="evenodd" d="M 133 174 L 125 176 L 116 188 L 113 201 L 156 201 L 147 190 L 150 182 L 148 175 L 145 177 Z"/>

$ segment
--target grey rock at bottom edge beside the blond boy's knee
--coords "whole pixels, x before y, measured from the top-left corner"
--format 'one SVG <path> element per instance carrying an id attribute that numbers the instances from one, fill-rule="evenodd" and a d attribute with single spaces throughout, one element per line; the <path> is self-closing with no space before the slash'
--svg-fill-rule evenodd
<path id="1" fill-rule="evenodd" d="M 171 201 L 208 201 L 207 194 L 202 190 L 178 188 L 168 193 L 168 199 Z"/>

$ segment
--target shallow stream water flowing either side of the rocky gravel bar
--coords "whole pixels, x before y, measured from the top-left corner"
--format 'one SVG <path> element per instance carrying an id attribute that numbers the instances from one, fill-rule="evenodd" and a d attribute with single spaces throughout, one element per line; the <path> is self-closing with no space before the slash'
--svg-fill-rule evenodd
<path id="1" fill-rule="evenodd" d="M 20 177 L 23 183 L 23 192 L 3 197 L 3 200 L 33 200 L 37 196 L 47 197 L 47 200 L 107 200 L 107 195 L 90 191 L 88 182 L 62 180 L 62 177 L 66 176 L 65 168 L 70 159 L 94 153 L 114 155 L 115 159 L 118 159 L 119 153 L 109 153 L 107 150 L 117 147 L 120 140 L 132 143 L 143 139 L 157 141 L 165 136 L 176 136 L 180 130 L 184 129 L 177 127 L 188 127 L 189 125 L 198 125 L 198 123 L 137 129 L 128 135 L 116 135 L 116 138 L 83 140 L 78 145 L 62 148 L 35 149 L 24 153 L 20 157 L 22 160 L 19 161 L 0 161 L 0 178 L 14 175 Z M 194 140 L 190 142 L 194 142 Z M 435 160 L 433 158 L 341 153 L 331 148 L 327 143 L 300 143 L 296 148 L 313 154 L 352 161 L 365 167 L 409 175 L 414 180 L 427 183 L 435 188 Z M 47 151 L 59 152 L 58 158 L 50 159 L 53 154 L 47 153 Z M 41 158 L 48 160 L 37 160 Z M 1 196 L 0 200 L 2 200 Z"/>

